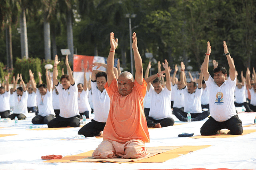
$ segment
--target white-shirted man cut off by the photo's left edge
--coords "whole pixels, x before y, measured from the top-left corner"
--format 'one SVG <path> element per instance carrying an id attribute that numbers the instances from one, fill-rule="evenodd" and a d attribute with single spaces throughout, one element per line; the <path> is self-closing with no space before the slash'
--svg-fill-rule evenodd
<path id="1" fill-rule="evenodd" d="M 1 115 L 1 118 L 6 118 L 10 115 L 9 76 L 10 76 L 10 73 L 8 73 L 7 76 L 4 76 L 6 90 L 5 90 L 4 86 L 0 87 L 0 115 Z"/>

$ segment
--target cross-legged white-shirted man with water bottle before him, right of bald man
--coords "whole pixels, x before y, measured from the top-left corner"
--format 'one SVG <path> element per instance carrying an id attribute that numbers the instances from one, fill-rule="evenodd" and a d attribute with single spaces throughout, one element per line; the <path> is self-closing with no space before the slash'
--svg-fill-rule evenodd
<path id="1" fill-rule="evenodd" d="M 181 81 L 182 93 L 184 95 L 184 111 L 179 109 L 173 109 L 172 112 L 180 121 L 188 121 L 188 117 L 187 117 L 188 112 L 191 114 L 191 121 L 201 121 L 206 117 L 208 117 L 210 114 L 209 111 L 202 112 L 202 106 L 201 106 L 201 96 L 203 92 L 202 70 L 200 72 L 198 86 L 196 82 L 188 82 L 186 86 L 186 82 L 184 78 L 185 65 L 183 62 L 181 62 L 180 66 L 181 66 L 180 81 Z"/>

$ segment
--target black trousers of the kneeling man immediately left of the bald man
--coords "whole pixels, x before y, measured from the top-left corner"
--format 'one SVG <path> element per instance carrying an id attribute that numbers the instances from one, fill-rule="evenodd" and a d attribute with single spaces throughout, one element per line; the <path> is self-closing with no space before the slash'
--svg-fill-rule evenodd
<path id="1" fill-rule="evenodd" d="M 105 125 L 106 125 L 106 122 L 98 122 L 92 119 L 92 121 L 84 125 L 78 131 L 78 135 L 84 135 L 84 137 L 97 136 L 101 131 L 103 131 Z"/>

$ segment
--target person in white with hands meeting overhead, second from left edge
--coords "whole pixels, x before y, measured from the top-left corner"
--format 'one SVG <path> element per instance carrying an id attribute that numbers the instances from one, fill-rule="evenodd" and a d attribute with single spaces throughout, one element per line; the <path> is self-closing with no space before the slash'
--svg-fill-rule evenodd
<path id="1" fill-rule="evenodd" d="M 20 80 L 22 87 L 18 87 L 16 90 L 16 86 L 18 83 L 18 80 Z M 14 81 L 13 84 L 13 89 L 14 89 L 14 96 L 15 96 L 15 106 L 13 113 L 9 115 L 8 117 L 10 119 L 14 119 L 15 117 L 18 118 L 18 120 L 26 119 L 28 116 L 28 107 L 27 107 L 27 100 L 28 100 L 28 91 L 26 89 L 25 83 L 22 79 L 22 75 L 17 74 L 17 78 Z"/>

